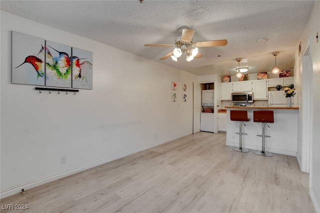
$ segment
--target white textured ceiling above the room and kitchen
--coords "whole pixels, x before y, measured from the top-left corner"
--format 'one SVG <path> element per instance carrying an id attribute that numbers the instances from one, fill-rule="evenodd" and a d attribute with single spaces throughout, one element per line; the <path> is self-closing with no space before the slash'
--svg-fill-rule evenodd
<path id="1" fill-rule="evenodd" d="M 271 52 L 276 63 L 293 68 L 314 0 L 1 0 L 1 10 L 81 35 L 107 45 L 176 67 L 196 75 L 234 75 L 240 66 L 249 72 L 269 71 Z M 173 47 L 145 47 L 146 43 L 173 44 L 178 28 L 194 29 L 193 41 L 227 39 L 226 46 L 200 47 L 204 56 L 159 60 Z M 258 38 L 265 42 L 257 42 Z M 220 56 L 218 56 L 220 55 Z"/>

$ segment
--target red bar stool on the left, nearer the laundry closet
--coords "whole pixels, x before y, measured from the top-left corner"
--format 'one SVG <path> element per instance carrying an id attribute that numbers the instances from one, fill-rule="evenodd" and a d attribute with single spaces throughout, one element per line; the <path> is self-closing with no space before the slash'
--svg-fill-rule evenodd
<path id="1" fill-rule="evenodd" d="M 249 121 L 248 112 L 246 110 L 230 110 L 230 120 L 240 121 L 239 132 L 235 132 L 236 134 L 239 135 L 239 147 L 232 148 L 232 149 L 234 151 L 248 152 L 249 149 L 242 148 L 242 135 L 246 134 L 246 133 L 242 132 L 242 123 L 243 123 L 243 121 Z"/>

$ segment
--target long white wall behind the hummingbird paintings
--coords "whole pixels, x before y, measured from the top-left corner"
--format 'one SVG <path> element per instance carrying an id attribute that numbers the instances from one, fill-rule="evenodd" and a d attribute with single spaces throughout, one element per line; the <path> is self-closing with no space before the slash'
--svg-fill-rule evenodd
<path id="1" fill-rule="evenodd" d="M 198 77 L 1 11 L 1 196 L 192 133 Z M 11 30 L 93 52 L 93 89 L 11 83 Z M 171 102 L 171 80 L 178 82 Z M 187 102 L 181 83 L 186 82 Z M 61 164 L 60 157 L 67 163 Z"/>

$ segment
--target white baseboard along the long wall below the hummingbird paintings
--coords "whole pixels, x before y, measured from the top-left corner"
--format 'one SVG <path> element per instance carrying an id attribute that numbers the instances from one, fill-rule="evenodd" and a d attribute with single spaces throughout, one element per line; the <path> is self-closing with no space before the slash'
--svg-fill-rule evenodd
<path id="1" fill-rule="evenodd" d="M 33 188 L 33 187 L 36 187 L 36 186 L 51 182 L 53 180 L 57 180 L 57 179 L 69 176 L 71 174 L 75 174 L 75 173 L 78 173 L 80 171 L 83 171 L 83 170 L 86 170 L 86 169 L 89 169 L 89 168 L 92 168 L 92 167 L 95 167 L 95 166 L 110 162 L 112 160 L 116 160 L 116 159 L 119 159 L 121 157 L 125 157 L 125 156 L 128 156 L 130 154 L 134 154 L 136 152 L 139 152 L 139 151 L 142 151 L 142 150 L 145 150 L 145 149 L 148 149 L 148 148 L 152 148 L 154 146 L 157 146 L 157 145 L 160 145 L 160 144 L 163 144 L 163 143 L 166 143 L 166 142 L 170 142 L 172 140 L 187 136 L 189 134 L 192 134 L 192 132 L 187 132 L 187 133 L 184 133 L 184 134 L 180 134 L 180 135 L 177 135 L 175 137 L 171 137 L 171 138 L 167 138 L 165 140 L 157 141 L 155 143 L 151 143 L 149 145 L 141 146 L 139 148 L 135 148 L 135 149 L 132 149 L 132 150 L 120 153 L 120 154 L 116 154 L 116 155 L 110 156 L 110 157 L 106 157 L 106 158 L 101 159 L 101 160 L 97 160 L 97 161 L 90 162 L 90 163 L 87 163 L 87 164 L 84 164 L 84 165 L 80 165 L 80 166 L 77 166 L 75 168 L 72 168 L 72 169 L 69 169 L 69 170 L 66 170 L 66 171 L 62 171 L 62 172 L 59 172 L 59 173 L 56 173 L 56 174 L 52 174 L 52 175 L 49 175 L 49 176 L 46 176 L 46 177 L 43 177 L 43 178 L 40 178 L 40 179 L 36 179 L 36 180 L 29 181 L 29 182 L 26 182 L 26 183 L 23 183 L 23 184 L 15 185 L 15 186 L 10 187 L 10 188 L 3 189 L 3 190 L 0 191 L 0 198 L 4 198 L 4 197 L 10 196 L 10 195 L 19 193 L 19 192 L 21 192 L 22 188 L 24 190 L 28 190 L 30 188 Z"/>

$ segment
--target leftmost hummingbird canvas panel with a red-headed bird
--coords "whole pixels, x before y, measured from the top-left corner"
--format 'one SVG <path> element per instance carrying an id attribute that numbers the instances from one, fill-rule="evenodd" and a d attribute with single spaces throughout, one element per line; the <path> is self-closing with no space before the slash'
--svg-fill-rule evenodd
<path id="1" fill-rule="evenodd" d="M 12 83 L 44 85 L 44 42 L 12 31 Z"/>

